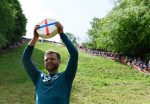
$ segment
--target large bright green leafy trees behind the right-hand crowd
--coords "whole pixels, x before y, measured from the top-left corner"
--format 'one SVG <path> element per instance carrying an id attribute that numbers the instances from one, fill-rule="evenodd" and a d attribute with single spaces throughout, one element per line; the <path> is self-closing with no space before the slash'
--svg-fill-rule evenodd
<path id="1" fill-rule="evenodd" d="M 89 48 L 150 58 L 150 0 L 118 0 L 105 18 L 93 18 Z"/>

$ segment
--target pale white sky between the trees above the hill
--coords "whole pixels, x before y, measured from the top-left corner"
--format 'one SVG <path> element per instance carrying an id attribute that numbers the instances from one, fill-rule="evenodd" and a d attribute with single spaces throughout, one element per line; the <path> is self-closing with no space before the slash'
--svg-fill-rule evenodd
<path id="1" fill-rule="evenodd" d="M 113 8 L 111 0 L 19 0 L 27 18 L 26 37 L 32 38 L 34 26 L 46 18 L 59 21 L 64 32 L 74 34 L 80 42 L 94 17 L 103 18 Z M 50 40 L 59 42 L 59 35 Z"/>

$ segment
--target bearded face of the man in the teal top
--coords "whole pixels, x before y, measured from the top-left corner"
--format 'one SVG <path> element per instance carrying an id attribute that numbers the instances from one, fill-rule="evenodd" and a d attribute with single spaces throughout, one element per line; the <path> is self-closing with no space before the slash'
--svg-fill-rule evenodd
<path id="1" fill-rule="evenodd" d="M 47 71 L 50 74 L 54 74 L 58 72 L 60 61 L 58 60 L 57 55 L 55 53 L 45 54 L 44 63 Z"/>

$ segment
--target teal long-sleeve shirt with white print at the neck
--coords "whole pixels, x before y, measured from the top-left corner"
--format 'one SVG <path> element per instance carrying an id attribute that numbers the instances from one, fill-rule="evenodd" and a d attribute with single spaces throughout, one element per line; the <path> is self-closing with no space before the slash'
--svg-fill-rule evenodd
<path id="1" fill-rule="evenodd" d="M 36 104 L 69 104 L 70 92 L 77 71 L 78 51 L 62 33 L 70 58 L 66 70 L 55 75 L 41 72 L 32 62 L 34 46 L 27 46 L 22 55 L 23 65 L 35 85 Z"/>

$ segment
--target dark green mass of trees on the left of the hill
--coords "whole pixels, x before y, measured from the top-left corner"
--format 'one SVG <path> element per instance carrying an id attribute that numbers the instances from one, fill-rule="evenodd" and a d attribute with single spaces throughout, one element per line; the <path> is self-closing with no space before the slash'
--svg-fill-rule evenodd
<path id="1" fill-rule="evenodd" d="M 0 2 L 0 48 L 18 41 L 26 33 L 27 19 L 18 0 Z"/>

